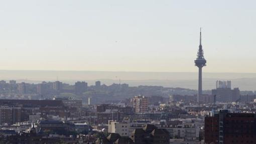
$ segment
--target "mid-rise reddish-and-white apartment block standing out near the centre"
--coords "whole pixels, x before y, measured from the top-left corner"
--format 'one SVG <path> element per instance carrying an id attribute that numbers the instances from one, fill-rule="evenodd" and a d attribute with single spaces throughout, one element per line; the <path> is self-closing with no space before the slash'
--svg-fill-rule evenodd
<path id="1" fill-rule="evenodd" d="M 132 98 L 132 103 L 135 112 L 144 113 L 148 111 L 149 100 L 146 96 L 134 96 L 134 98 Z"/>

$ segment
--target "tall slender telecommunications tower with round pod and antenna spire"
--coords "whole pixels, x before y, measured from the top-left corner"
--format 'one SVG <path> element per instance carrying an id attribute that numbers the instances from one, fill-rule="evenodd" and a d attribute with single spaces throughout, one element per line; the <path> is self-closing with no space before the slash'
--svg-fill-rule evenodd
<path id="1" fill-rule="evenodd" d="M 195 65 L 198 67 L 198 94 L 197 94 L 197 102 L 200 102 L 200 97 L 202 96 L 202 68 L 206 66 L 206 60 L 204 59 L 204 52 L 202 49 L 202 39 L 201 39 L 201 28 L 200 28 L 200 44 L 199 50 L 197 52 L 197 58 L 194 61 Z"/>

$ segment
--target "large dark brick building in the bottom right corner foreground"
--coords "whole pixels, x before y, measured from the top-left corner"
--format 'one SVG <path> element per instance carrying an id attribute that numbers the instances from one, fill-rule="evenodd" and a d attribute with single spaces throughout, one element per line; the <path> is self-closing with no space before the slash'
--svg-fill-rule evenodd
<path id="1" fill-rule="evenodd" d="M 205 143 L 256 143 L 256 115 L 229 113 L 205 117 Z"/>

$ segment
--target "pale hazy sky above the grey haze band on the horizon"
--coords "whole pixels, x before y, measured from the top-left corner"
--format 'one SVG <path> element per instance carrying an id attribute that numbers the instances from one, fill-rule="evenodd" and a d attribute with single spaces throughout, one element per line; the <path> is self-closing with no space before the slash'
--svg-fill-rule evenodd
<path id="1" fill-rule="evenodd" d="M 255 1 L 0 1 L 0 69 L 256 72 Z"/>

